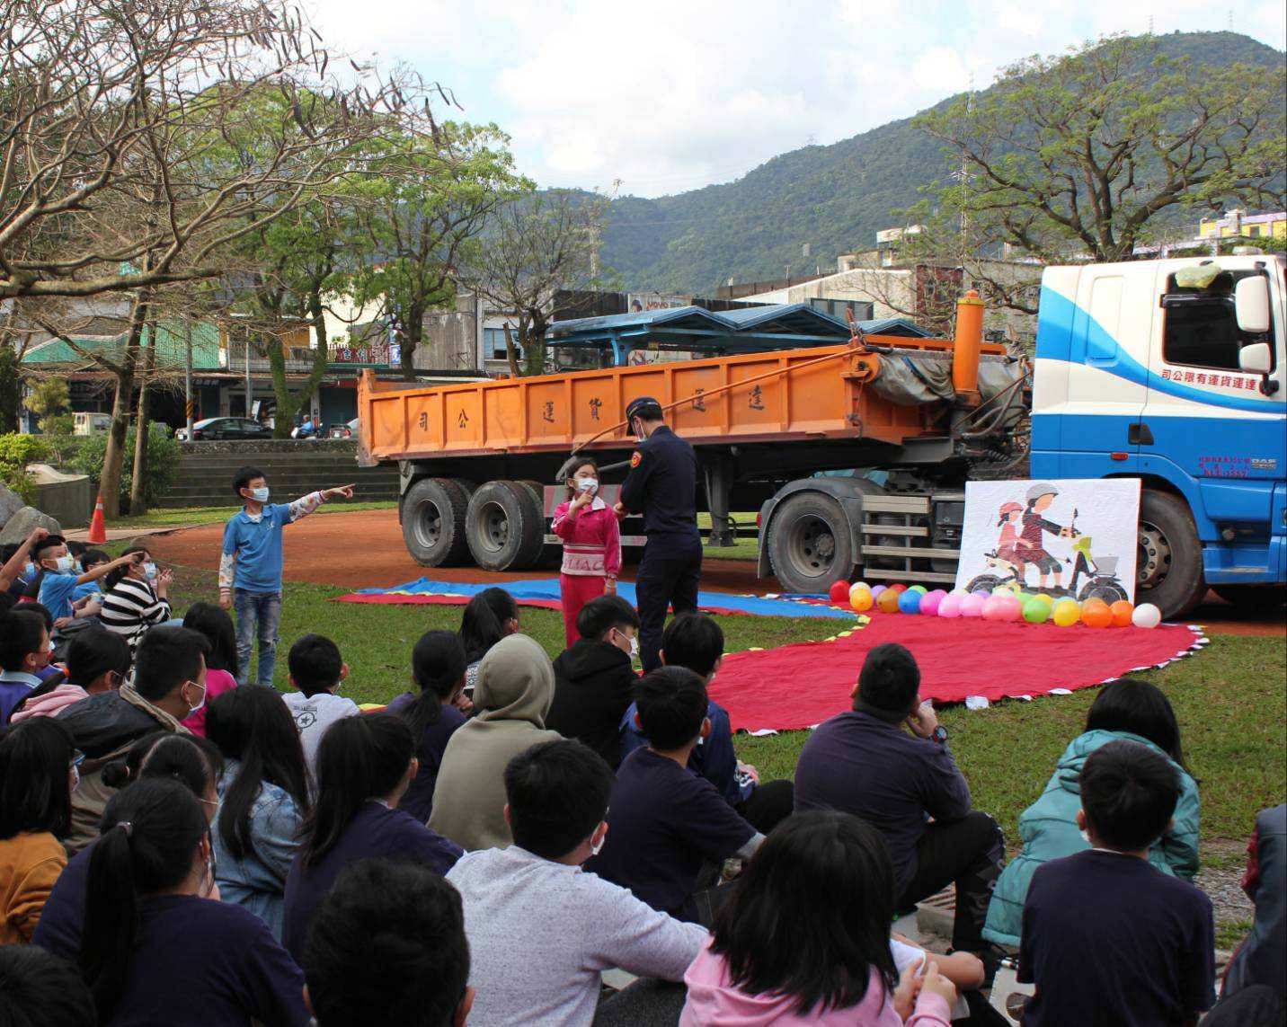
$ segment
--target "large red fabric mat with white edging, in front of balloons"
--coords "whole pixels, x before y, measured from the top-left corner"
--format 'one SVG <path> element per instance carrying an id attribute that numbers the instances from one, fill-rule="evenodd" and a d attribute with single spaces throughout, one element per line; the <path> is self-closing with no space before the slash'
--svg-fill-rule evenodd
<path id="1" fill-rule="evenodd" d="M 1198 628 L 1086 628 L 878 614 L 834 642 L 725 658 L 710 698 L 735 731 L 813 727 L 851 708 L 862 660 L 882 642 L 900 642 L 920 664 L 920 694 L 937 703 L 988 700 L 1085 689 L 1185 655 Z"/>

